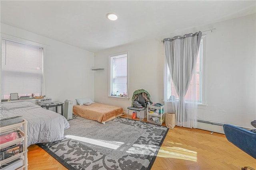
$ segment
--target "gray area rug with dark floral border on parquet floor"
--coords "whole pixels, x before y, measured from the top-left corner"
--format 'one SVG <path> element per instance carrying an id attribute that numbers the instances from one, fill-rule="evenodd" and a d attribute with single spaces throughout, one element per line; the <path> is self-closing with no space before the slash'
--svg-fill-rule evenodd
<path id="1" fill-rule="evenodd" d="M 38 144 L 70 170 L 150 169 L 168 128 L 118 117 L 105 125 L 74 116 L 62 141 Z"/>

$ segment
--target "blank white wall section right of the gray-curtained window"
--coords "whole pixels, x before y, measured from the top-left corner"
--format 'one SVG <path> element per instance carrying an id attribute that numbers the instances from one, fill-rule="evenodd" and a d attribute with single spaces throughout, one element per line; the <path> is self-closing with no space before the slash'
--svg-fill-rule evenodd
<path id="1" fill-rule="evenodd" d="M 256 119 L 255 14 L 214 24 L 207 35 L 207 103 L 198 118 L 252 128 Z"/>

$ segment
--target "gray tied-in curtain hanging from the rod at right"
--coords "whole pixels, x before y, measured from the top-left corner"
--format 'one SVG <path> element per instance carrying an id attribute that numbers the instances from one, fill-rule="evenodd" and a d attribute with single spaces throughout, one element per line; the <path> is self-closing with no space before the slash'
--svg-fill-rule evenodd
<path id="1" fill-rule="evenodd" d="M 186 99 L 186 103 L 184 96 L 188 91 L 195 71 L 201 37 L 202 33 L 199 31 L 194 34 L 189 33 L 172 39 L 164 39 L 166 61 L 179 96 L 176 109 L 176 125 L 178 126 L 197 127 L 197 101 L 194 100 L 195 96 L 190 95 L 190 99 Z"/>

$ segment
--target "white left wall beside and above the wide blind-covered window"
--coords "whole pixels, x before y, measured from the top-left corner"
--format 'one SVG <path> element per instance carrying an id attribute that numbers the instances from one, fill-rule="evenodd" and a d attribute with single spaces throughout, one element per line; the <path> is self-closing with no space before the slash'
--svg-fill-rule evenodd
<path id="1" fill-rule="evenodd" d="M 46 96 L 64 102 L 94 97 L 94 53 L 1 23 L 1 33 L 46 45 Z"/>

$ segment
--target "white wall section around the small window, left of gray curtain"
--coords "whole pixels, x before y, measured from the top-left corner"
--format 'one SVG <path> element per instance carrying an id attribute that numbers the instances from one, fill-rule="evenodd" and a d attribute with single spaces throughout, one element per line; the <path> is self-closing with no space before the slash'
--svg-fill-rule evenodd
<path id="1" fill-rule="evenodd" d="M 131 105 L 132 94 L 135 90 L 147 90 L 154 102 L 162 101 L 163 93 L 163 57 L 158 51 L 162 44 L 159 41 L 144 41 L 122 47 L 104 50 L 94 55 L 95 68 L 105 68 L 94 74 L 94 100 L 105 104 L 122 106 L 125 110 Z M 108 56 L 129 51 L 129 97 L 130 100 L 108 98 Z"/>

